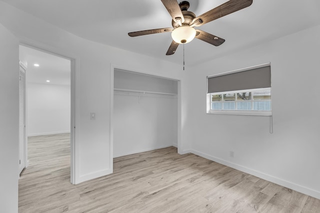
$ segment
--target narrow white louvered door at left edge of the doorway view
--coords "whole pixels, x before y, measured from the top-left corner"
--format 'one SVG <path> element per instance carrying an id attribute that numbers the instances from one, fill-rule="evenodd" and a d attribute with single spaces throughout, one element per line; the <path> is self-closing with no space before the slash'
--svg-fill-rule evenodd
<path id="1" fill-rule="evenodd" d="M 25 68 L 20 64 L 19 77 L 19 173 L 25 168 Z"/>

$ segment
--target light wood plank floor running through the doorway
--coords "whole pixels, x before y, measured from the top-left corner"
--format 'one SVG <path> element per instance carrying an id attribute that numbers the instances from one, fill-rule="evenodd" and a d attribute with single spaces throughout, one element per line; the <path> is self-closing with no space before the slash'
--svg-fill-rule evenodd
<path id="1" fill-rule="evenodd" d="M 70 184 L 69 135 L 29 137 L 19 213 L 320 213 L 320 200 L 174 147 L 114 159 Z"/>

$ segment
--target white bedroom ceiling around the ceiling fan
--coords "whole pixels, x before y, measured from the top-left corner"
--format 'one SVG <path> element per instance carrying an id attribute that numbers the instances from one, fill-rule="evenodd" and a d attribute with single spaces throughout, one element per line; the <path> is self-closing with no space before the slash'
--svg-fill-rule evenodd
<path id="1" fill-rule="evenodd" d="M 171 16 L 160 0 L 2 0 L 80 37 L 174 63 L 182 63 L 182 45 L 165 53 L 170 32 L 129 37 L 128 32 L 171 27 Z M 195 15 L 226 0 L 189 0 Z M 180 0 L 178 0 L 180 2 Z M 224 38 L 215 47 L 194 39 L 185 44 L 186 65 L 194 65 L 260 42 L 320 24 L 320 0 L 253 0 L 199 29 Z M 298 41 L 292 45 L 299 45 Z"/>

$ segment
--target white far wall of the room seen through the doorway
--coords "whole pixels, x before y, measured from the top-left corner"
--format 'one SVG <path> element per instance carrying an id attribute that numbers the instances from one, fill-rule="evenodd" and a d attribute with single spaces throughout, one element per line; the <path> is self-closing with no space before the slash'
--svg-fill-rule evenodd
<path id="1" fill-rule="evenodd" d="M 28 136 L 70 132 L 70 86 L 27 83 Z"/>

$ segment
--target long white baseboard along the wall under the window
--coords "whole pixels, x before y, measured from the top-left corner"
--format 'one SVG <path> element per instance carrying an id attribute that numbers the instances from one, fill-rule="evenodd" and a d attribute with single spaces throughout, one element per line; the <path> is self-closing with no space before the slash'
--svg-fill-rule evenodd
<path id="1" fill-rule="evenodd" d="M 243 167 L 243 166 L 238 165 L 238 164 L 231 163 L 229 161 L 225 161 L 225 160 L 220 159 L 220 158 L 216 158 L 216 157 L 211 156 L 211 155 L 207 155 L 207 154 L 202 153 L 202 152 L 198 152 L 196 150 L 189 150 L 189 151 L 191 153 L 195 154 L 195 155 L 201 156 L 201 157 L 206 158 L 208 160 L 217 162 L 219 164 L 223 164 L 225 166 L 231 167 L 231 168 L 239 170 L 241 172 L 248 173 L 250 175 L 256 176 L 256 177 L 261 178 L 263 180 L 266 180 L 266 181 L 272 182 L 274 184 L 278 184 L 280 186 L 292 189 L 294 191 L 297 191 L 297 192 L 300 192 L 302 194 L 311 196 L 313 198 L 320 199 L 320 192 L 317 192 L 315 190 L 312 190 L 312 189 L 300 186 L 298 184 L 294 184 L 294 183 L 279 179 L 277 177 L 274 177 L 274 176 L 271 176 L 271 175 L 268 175 L 268 174 L 265 174 L 265 173 L 262 173 L 262 172 L 259 172 L 259 171 L 256 171 L 256 170 L 252 170 L 252 169 L 247 168 L 247 167 Z"/>

